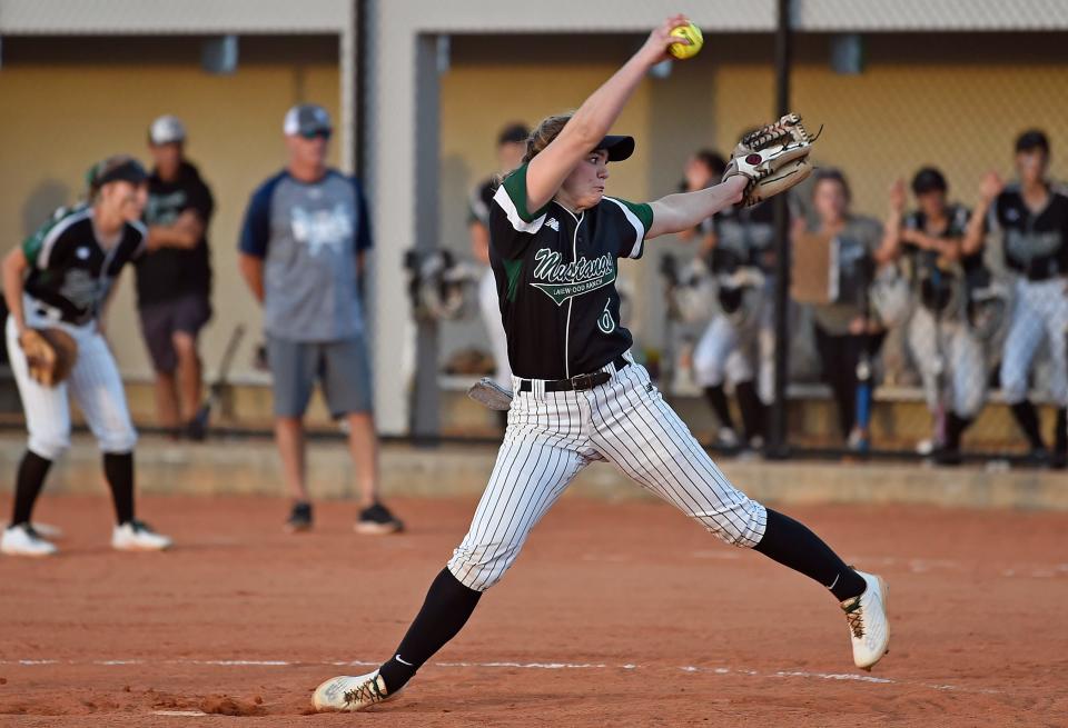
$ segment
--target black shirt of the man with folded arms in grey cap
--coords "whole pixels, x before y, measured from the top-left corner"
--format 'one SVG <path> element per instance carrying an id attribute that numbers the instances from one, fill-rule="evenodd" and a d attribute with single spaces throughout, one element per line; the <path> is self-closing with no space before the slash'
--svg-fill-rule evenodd
<path id="1" fill-rule="evenodd" d="M 188 293 L 207 296 L 211 290 L 211 261 L 207 230 L 215 210 L 211 190 L 197 168 L 182 162 L 178 178 L 165 182 L 157 171 L 148 178 L 148 205 L 145 223 L 169 226 L 186 210 L 195 210 L 204 222 L 204 235 L 189 250 L 161 248 L 142 256 L 137 271 L 137 305 L 148 306 L 174 300 Z"/>

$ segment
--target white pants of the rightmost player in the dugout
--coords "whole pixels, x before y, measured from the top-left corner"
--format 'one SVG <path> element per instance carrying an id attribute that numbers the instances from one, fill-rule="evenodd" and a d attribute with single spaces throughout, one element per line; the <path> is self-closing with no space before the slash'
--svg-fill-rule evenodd
<path id="1" fill-rule="evenodd" d="M 1027 375 L 1042 339 L 1049 338 L 1052 360 L 1050 396 L 1059 407 L 1068 407 L 1068 295 L 1065 279 L 1016 281 L 1012 322 L 1001 356 L 1001 389 L 1005 399 L 1016 405 L 1027 399 Z"/>

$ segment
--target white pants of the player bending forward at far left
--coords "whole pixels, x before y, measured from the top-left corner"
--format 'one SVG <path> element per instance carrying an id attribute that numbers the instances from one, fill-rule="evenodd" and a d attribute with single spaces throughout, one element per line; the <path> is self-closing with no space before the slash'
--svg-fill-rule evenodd
<path id="1" fill-rule="evenodd" d="M 55 460 L 70 446 L 70 403 L 68 391 L 78 402 L 103 452 L 130 452 L 137 432 L 126 406 L 126 392 L 115 358 L 95 323 L 69 326 L 31 313 L 36 305 L 26 307 L 27 325 L 57 327 L 78 342 L 78 361 L 67 381 L 44 387 L 30 378 L 26 355 L 19 346 L 14 321 L 8 317 L 8 359 L 22 398 L 29 448 L 48 460 Z"/>

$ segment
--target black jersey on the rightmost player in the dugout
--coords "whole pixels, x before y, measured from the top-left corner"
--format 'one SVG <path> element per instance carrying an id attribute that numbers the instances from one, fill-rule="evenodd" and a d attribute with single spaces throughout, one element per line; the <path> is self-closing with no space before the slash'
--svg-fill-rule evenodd
<path id="1" fill-rule="evenodd" d="M 1005 232 L 1005 263 L 1012 270 L 1031 280 L 1068 275 L 1068 197 L 1050 190 L 1036 213 L 1010 186 L 990 207 L 987 226 Z"/>

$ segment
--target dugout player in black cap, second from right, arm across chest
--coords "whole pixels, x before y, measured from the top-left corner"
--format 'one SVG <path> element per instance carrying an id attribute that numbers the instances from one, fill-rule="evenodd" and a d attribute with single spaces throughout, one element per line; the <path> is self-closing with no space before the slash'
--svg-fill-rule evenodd
<path id="1" fill-rule="evenodd" d="M 987 392 L 983 343 L 969 325 L 966 285 L 983 272 L 982 256 L 961 253 L 969 212 L 948 201 L 941 171 L 920 169 L 911 187 L 917 209 L 909 212 L 904 180 L 890 189 L 882 256 L 903 260 L 911 280 L 917 306 L 908 346 L 934 418 L 932 455 L 940 463 L 957 465 L 961 435 L 978 417 Z"/>

